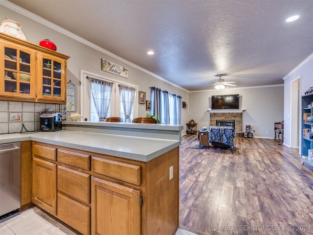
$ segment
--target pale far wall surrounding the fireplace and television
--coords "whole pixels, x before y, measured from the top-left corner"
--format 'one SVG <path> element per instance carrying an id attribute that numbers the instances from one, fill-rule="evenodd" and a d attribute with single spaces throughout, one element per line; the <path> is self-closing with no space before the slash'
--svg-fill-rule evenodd
<path id="1" fill-rule="evenodd" d="M 251 87 L 227 88 L 221 91 L 209 90 L 190 93 L 190 118 L 198 123 L 198 128 L 209 126 L 209 112 L 211 106 L 209 98 L 217 94 L 239 94 L 240 109 L 243 113 L 243 132 L 245 126 L 251 125 L 254 135 L 261 138 L 274 138 L 274 122 L 282 121 L 284 114 L 284 87 Z M 189 106 L 188 106 L 189 107 Z M 187 116 L 188 117 L 188 116 Z"/>

